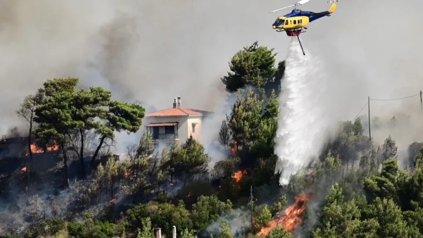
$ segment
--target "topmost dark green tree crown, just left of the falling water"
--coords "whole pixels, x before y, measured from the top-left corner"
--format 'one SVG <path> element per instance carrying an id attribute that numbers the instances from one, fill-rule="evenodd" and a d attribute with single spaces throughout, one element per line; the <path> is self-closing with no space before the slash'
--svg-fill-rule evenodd
<path id="1" fill-rule="evenodd" d="M 264 88 L 275 73 L 273 49 L 258 46 L 257 41 L 250 47 L 238 51 L 229 62 L 228 76 L 221 78 L 228 92 L 236 92 L 247 84 Z"/>

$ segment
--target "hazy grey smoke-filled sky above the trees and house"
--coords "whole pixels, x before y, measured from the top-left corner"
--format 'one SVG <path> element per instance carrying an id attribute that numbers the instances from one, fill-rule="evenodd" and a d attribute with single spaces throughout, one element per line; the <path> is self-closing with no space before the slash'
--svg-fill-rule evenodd
<path id="1" fill-rule="evenodd" d="M 104 86 L 116 98 L 156 109 L 172 106 L 180 95 L 183 106 L 213 110 L 225 98 L 219 78 L 236 51 L 257 40 L 285 59 L 291 38 L 271 25 L 291 9 L 269 11 L 292 3 L 2 1 L 0 132 L 17 123 L 14 111 L 24 96 L 55 77 L 79 77 L 84 86 Z M 412 24 L 422 6 L 341 0 L 332 16 L 313 21 L 301 35 L 306 50 L 326 63 L 337 114 L 354 117 L 368 95 L 391 98 L 423 90 L 422 34 Z M 301 9 L 329 7 L 311 0 Z M 394 104 L 380 106 L 389 111 Z"/>

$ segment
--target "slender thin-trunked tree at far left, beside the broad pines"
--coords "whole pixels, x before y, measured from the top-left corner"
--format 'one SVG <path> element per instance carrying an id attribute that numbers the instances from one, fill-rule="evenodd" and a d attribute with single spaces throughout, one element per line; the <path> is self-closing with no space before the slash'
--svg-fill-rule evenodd
<path id="1" fill-rule="evenodd" d="M 28 153 L 31 158 L 31 170 L 34 167 L 34 160 L 32 156 L 31 150 L 31 139 L 32 139 L 32 129 L 34 125 L 34 116 L 35 116 L 35 109 L 38 104 L 41 102 L 42 95 L 40 93 L 36 93 L 35 95 L 28 95 L 25 97 L 24 101 L 21 103 L 20 108 L 16 111 L 19 117 L 24 118 L 28 122 L 29 133 L 28 133 Z"/>

